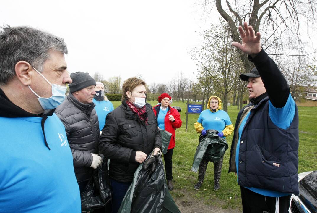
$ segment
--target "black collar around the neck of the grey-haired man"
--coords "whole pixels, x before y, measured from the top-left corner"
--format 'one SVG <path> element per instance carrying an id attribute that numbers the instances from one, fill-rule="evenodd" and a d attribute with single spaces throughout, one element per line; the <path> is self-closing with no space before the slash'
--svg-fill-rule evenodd
<path id="1" fill-rule="evenodd" d="M 55 109 L 45 110 L 41 114 L 33 114 L 15 105 L 0 89 L 0 117 L 44 117 L 53 115 Z"/>

